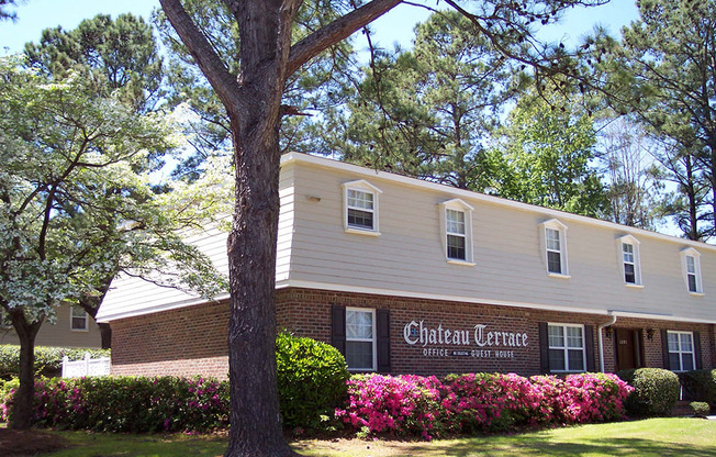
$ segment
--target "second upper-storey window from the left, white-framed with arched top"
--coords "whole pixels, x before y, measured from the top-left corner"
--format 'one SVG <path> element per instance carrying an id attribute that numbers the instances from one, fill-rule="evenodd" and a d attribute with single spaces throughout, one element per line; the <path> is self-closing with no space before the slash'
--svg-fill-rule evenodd
<path id="1" fill-rule="evenodd" d="M 473 266 L 472 263 L 472 211 L 460 199 L 438 204 L 445 258 L 450 264 Z"/>

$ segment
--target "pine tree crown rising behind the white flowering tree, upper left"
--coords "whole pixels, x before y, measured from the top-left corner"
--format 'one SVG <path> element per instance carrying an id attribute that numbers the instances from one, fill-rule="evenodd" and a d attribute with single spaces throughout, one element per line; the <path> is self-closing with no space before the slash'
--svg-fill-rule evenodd
<path id="1" fill-rule="evenodd" d="M 163 60 L 152 26 L 133 14 L 116 20 L 99 14 L 71 31 L 45 29 L 40 43 L 25 45 L 25 54 L 47 75 L 80 73 L 102 96 L 119 91 L 137 111 L 153 110 L 163 96 Z"/>

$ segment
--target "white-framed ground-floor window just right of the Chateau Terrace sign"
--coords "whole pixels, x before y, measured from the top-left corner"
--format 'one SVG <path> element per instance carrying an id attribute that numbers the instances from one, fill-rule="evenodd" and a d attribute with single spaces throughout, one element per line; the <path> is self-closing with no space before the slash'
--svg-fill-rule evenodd
<path id="1" fill-rule="evenodd" d="M 584 326 L 547 324 L 549 368 L 552 372 L 586 371 Z"/>

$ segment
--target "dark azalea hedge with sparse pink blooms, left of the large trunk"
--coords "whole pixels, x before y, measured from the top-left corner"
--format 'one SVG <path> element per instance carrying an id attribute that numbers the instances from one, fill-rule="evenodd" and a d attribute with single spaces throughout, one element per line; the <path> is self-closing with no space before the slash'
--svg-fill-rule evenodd
<path id="1" fill-rule="evenodd" d="M 2 419 L 14 394 L 0 399 Z M 33 425 L 98 432 L 208 432 L 228 425 L 228 386 L 193 378 L 78 378 L 35 381 Z"/>

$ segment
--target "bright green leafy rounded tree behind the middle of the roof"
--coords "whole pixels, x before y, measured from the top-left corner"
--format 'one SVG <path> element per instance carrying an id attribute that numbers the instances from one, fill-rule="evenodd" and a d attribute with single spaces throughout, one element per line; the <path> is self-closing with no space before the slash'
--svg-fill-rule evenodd
<path id="1" fill-rule="evenodd" d="M 594 123 L 579 104 L 557 91 L 528 92 L 500 143 L 491 153 L 499 196 L 592 218 L 604 213 L 604 186 L 591 164 Z"/>

